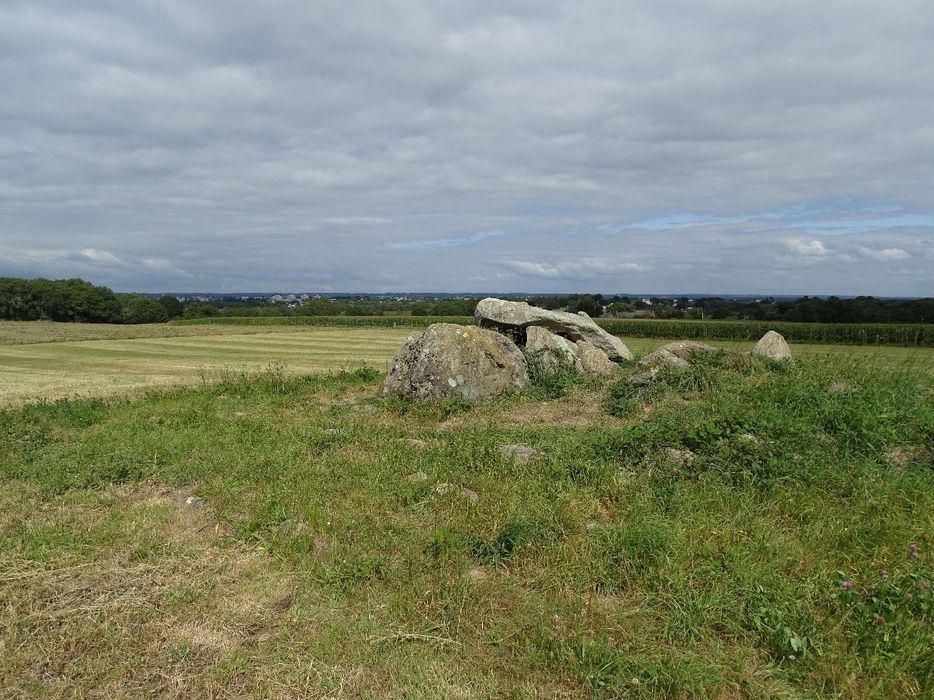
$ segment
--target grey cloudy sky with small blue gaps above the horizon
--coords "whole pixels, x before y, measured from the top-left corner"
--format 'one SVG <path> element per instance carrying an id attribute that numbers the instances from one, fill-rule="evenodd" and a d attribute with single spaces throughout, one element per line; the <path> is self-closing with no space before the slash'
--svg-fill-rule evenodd
<path id="1" fill-rule="evenodd" d="M 0 2 L 0 276 L 934 295 L 930 0 Z"/>

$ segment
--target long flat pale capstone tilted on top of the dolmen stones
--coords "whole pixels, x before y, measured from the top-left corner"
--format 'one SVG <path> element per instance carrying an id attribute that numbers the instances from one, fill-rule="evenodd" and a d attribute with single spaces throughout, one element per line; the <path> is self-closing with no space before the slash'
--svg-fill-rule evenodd
<path id="1" fill-rule="evenodd" d="M 586 340 L 603 350 L 611 360 L 631 360 L 626 344 L 600 328 L 587 314 L 549 311 L 530 306 L 524 301 L 506 301 L 489 297 L 477 304 L 474 312 L 477 323 L 486 328 L 528 328 L 541 326 L 573 341 Z"/>

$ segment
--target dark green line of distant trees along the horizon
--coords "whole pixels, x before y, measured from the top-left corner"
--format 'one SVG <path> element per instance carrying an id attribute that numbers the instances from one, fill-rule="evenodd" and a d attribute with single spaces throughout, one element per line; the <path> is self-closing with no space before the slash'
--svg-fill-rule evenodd
<path id="1" fill-rule="evenodd" d="M 393 298 L 316 297 L 294 308 L 239 300 L 189 301 L 174 296 L 117 294 L 82 279 L 47 280 L 0 277 L 0 319 L 83 323 L 164 323 L 176 318 L 214 316 L 471 316 L 479 297 Z M 793 321 L 803 323 L 932 323 L 934 299 L 878 299 L 860 296 L 799 299 L 726 299 L 723 297 L 603 296 L 552 294 L 525 297 L 546 309 L 583 311 L 594 318 Z"/>

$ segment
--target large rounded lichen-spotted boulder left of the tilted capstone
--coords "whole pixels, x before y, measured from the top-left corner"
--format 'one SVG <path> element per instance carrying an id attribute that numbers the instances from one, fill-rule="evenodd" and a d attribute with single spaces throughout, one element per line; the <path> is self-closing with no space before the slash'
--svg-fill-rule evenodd
<path id="1" fill-rule="evenodd" d="M 525 357 L 509 338 L 475 326 L 436 323 L 396 351 L 384 396 L 486 399 L 524 389 Z"/>

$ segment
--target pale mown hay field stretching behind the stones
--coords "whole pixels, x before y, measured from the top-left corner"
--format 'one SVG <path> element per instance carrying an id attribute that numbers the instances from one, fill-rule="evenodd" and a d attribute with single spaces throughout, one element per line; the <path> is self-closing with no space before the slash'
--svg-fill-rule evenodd
<path id="1" fill-rule="evenodd" d="M 289 375 L 363 366 L 388 368 L 412 328 L 307 326 L 110 326 L 49 322 L 0 324 L 0 405 L 73 396 L 103 397 L 186 384 L 270 366 Z M 637 355 L 669 342 L 625 338 Z M 749 343 L 711 341 L 743 349 Z M 934 371 L 934 349 L 793 345 L 801 357 L 834 355 L 875 365 Z"/>

